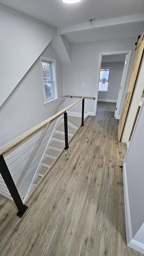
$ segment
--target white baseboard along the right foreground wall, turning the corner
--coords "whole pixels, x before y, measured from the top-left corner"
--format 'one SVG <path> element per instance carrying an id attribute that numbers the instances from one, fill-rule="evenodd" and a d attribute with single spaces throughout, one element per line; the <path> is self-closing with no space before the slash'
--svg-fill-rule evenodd
<path id="1" fill-rule="evenodd" d="M 124 204 L 125 204 L 127 246 L 144 254 L 144 244 L 141 244 L 138 241 L 135 241 L 132 239 L 131 218 L 130 218 L 130 208 L 129 208 L 128 187 L 127 187 L 127 177 L 126 177 L 126 164 L 125 163 L 123 164 L 123 184 L 124 184 Z"/>

